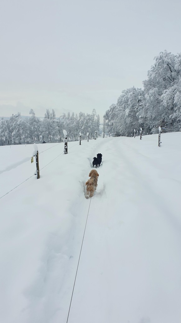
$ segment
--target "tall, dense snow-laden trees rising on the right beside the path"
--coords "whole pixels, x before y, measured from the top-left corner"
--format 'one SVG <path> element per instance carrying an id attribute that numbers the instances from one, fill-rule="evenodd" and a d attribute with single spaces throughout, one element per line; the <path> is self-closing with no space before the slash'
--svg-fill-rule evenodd
<path id="1" fill-rule="evenodd" d="M 122 91 L 103 119 L 103 132 L 131 135 L 134 128 L 157 133 L 181 130 L 181 53 L 166 50 L 154 58 L 155 63 L 143 81 L 143 89 Z"/>

